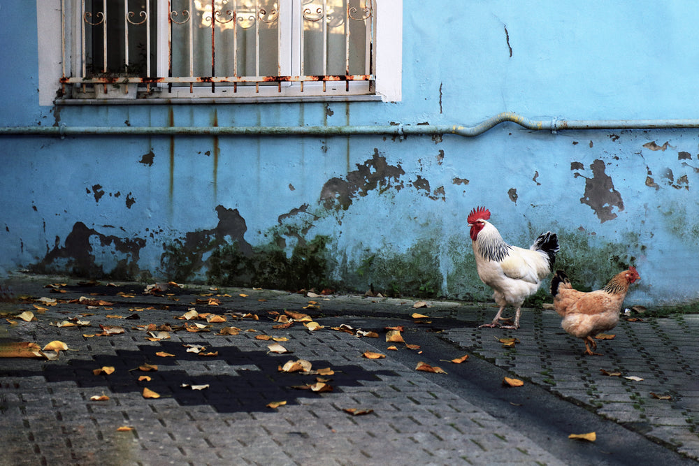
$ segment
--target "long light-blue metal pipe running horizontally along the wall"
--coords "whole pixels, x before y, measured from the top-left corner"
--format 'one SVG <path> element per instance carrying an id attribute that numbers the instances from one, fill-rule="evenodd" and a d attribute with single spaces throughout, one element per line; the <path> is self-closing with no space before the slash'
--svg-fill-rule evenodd
<path id="1" fill-rule="evenodd" d="M 503 112 L 475 126 L 462 125 L 375 125 L 375 126 L 9 126 L 0 136 L 407 136 L 454 134 L 473 138 L 500 123 L 512 122 L 532 131 L 591 129 L 699 129 L 699 119 L 607 119 L 535 120 Z"/>

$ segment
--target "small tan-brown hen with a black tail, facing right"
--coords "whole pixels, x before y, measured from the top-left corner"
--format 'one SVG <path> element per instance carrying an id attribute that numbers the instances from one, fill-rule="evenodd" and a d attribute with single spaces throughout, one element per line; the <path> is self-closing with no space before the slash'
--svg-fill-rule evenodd
<path id="1" fill-rule="evenodd" d="M 600 355 L 592 351 L 597 349 L 597 342 L 592 337 L 617 326 L 628 286 L 640 278 L 632 266 L 614 275 L 603 289 L 584 293 L 572 288 L 563 270 L 556 271 L 551 279 L 554 309 L 563 317 L 563 330 L 585 342 L 584 354 Z"/>

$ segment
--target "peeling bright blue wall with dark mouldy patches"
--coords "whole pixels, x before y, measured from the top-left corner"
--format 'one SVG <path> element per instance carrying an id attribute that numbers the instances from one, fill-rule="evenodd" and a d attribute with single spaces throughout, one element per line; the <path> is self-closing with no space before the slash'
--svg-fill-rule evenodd
<path id="1" fill-rule="evenodd" d="M 0 55 L 16 66 L 0 74 L 14 92 L 0 95 L 0 119 L 353 126 L 471 125 L 506 110 L 699 117 L 699 50 L 687 39 L 696 28 L 684 13 L 693 3 L 511 3 L 445 2 L 443 14 L 424 15 L 422 2 L 404 0 L 399 103 L 61 107 L 38 105 L 38 65 L 27 59 L 36 57 L 37 30 L 10 20 L 26 16 L 10 4 Z M 477 27 L 464 28 L 463 18 Z M 556 231 L 556 265 L 581 288 L 633 264 L 642 276 L 633 303 L 699 298 L 695 129 L 551 133 L 508 123 L 477 138 L 0 136 L 0 147 L 3 273 L 489 299 L 466 225 L 470 209 L 485 205 L 514 245 Z"/>

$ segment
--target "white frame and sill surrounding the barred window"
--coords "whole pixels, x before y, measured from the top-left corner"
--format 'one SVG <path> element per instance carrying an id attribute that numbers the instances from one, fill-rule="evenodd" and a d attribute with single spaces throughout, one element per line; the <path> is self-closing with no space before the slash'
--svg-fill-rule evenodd
<path id="1" fill-rule="evenodd" d="M 89 98 L 89 94 L 84 99 L 57 99 L 57 94 L 61 91 L 59 79 L 62 75 L 66 75 L 70 71 L 70 63 L 62 62 L 63 44 L 69 50 L 79 47 L 79 43 L 75 42 L 75 38 L 66 38 L 62 30 L 62 2 L 71 0 L 36 0 L 37 8 L 37 30 L 38 30 L 38 61 L 39 61 L 39 104 L 54 105 L 55 103 L 104 103 L 104 99 Z M 167 2 L 168 0 L 158 0 Z M 281 0 L 284 3 L 291 3 L 292 8 L 301 8 L 301 0 Z M 251 94 L 250 87 L 245 89 L 243 86 L 238 86 L 238 91 L 233 95 L 232 92 L 226 90 L 227 86 L 220 85 L 219 91 L 212 97 L 209 90 L 208 95 L 202 88 L 199 93 L 190 93 L 189 87 L 181 89 L 173 87 L 173 92 L 161 92 L 164 99 L 137 99 L 130 101 L 110 101 L 113 103 L 157 103 L 157 101 L 182 101 L 182 103 L 202 103 L 211 102 L 236 102 L 236 101 L 257 101 L 257 102 L 273 102 L 273 101 L 331 101 L 331 100 L 373 100 L 381 99 L 382 101 L 401 101 L 401 80 L 402 80 L 402 34 L 403 34 L 403 0 L 373 0 L 373 8 L 375 17 L 375 43 L 374 43 L 374 78 L 373 92 L 364 94 L 353 94 L 346 92 L 345 82 L 305 82 L 304 92 L 300 91 L 300 86 L 297 82 L 291 85 L 290 82 L 282 82 L 284 85 L 284 95 L 279 95 L 277 86 L 259 86 L 257 92 Z M 79 15 L 79 14 L 78 14 Z M 162 15 L 161 15 L 162 17 Z M 287 31 L 290 28 L 299 27 L 301 18 L 294 15 L 293 24 L 289 22 L 280 22 L 282 34 L 291 34 Z M 167 24 L 167 19 L 164 17 L 164 22 Z M 167 30 L 162 28 L 161 31 Z M 167 54 L 168 51 L 162 45 L 162 41 L 168 38 L 165 34 L 159 34 L 158 50 L 159 59 L 157 60 L 157 73 L 163 75 L 164 69 L 167 68 L 166 59 L 162 53 Z M 283 41 L 291 43 L 291 50 L 285 50 L 284 56 L 300 57 L 298 50 L 298 41 Z M 282 53 L 282 51 L 280 51 Z M 281 55 L 280 55 L 281 56 Z M 166 57 L 166 55 L 165 55 Z M 68 60 L 66 60 L 68 61 Z M 280 66 L 289 67 L 291 75 L 296 75 L 299 71 L 298 60 L 291 59 L 291 63 L 282 60 Z M 163 68 L 164 67 L 164 68 Z M 165 71 L 166 72 L 166 71 Z M 367 85 L 367 82 L 349 81 L 350 85 Z M 317 92 L 315 87 L 326 86 L 326 92 Z M 254 86 L 252 86 L 254 89 Z M 175 94 L 175 89 L 177 93 Z M 243 92 L 240 92 L 243 91 Z M 152 93 L 156 94 L 156 93 Z"/>

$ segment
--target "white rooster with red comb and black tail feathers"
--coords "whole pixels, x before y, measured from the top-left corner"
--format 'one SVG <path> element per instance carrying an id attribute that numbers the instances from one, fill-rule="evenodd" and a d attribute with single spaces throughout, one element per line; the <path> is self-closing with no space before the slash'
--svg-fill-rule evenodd
<path id="1" fill-rule="evenodd" d="M 468 225 L 473 242 L 478 277 L 493 289 L 493 299 L 500 306 L 491 323 L 481 327 L 499 326 L 500 316 L 507 305 L 514 306 L 514 324 L 500 328 L 519 328 L 519 314 L 524 300 L 536 293 L 544 279 L 551 273 L 559 252 L 556 233 L 547 231 L 539 235 L 529 249 L 508 245 L 488 219 L 490 211 L 477 207 L 468 214 Z"/>

